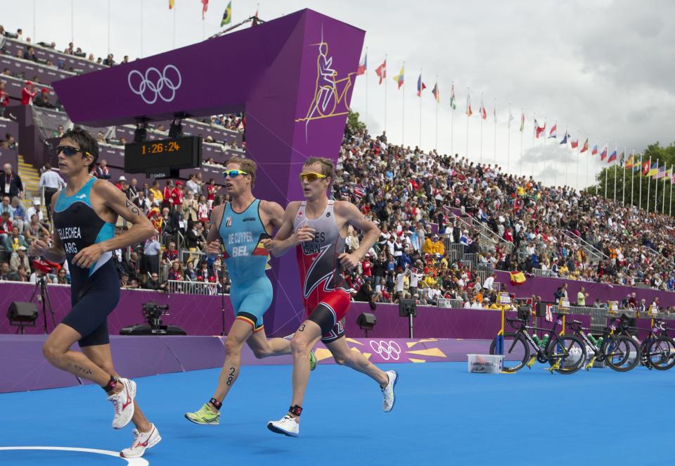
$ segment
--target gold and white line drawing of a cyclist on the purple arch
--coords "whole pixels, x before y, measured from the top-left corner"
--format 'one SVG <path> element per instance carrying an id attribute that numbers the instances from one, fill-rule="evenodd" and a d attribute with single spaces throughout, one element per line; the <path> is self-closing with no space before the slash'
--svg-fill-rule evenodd
<path id="1" fill-rule="evenodd" d="M 347 77 L 338 80 L 338 72 L 333 69 L 333 57 L 328 55 L 328 42 L 323 40 L 323 27 L 321 28 L 321 42 L 309 44 L 316 46 L 319 56 L 316 58 L 316 85 L 314 87 L 314 99 L 312 99 L 307 115 L 297 118 L 295 122 L 305 122 L 305 138 L 309 133 L 309 122 L 349 113 L 347 105 L 347 92 L 352 87 L 352 76 L 356 72 L 349 73 Z"/>

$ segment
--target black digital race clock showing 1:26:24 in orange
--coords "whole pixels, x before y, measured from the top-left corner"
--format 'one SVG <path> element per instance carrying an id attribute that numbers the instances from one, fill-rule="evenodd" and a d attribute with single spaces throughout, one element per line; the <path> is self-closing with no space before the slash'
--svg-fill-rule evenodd
<path id="1" fill-rule="evenodd" d="M 179 169 L 200 165 L 200 136 L 131 142 L 124 146 L 124 172 L 127 173 L 146 173 L 156 178 L 176 177 Z"/>

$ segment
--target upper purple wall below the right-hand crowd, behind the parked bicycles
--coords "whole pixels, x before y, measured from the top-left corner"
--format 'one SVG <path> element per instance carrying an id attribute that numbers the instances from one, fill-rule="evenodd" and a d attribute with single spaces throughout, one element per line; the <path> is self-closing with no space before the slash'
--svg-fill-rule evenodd
<path id="1" fill-rule="evenodd" d="M 536 294 L 537 296 L 541 296 L 543 301 L 553 302 L 555 290 L 563 286 L 563 283 L 567 283 L 567 296 L 570 297 L 570 304 L 577 302 L 579 288 L 584 286 L 586 293 L 589 294 L 589 297 L 586 298 L 587 306 L 592 306 L 598 298 L 603 303 L 607 301 L 619 301 L 620 303 L 627 294 L 631 293 L 636 294 L 638 301 L 641 298 L 645 298 L 648 304 L 652 303 L 653 299 L 658 296 L 661 306 L 675 306 L 675 293 L 671 291 L 546 277 L 527 277 L 524 284 L 514 285 L 511 284 L 508 272 L 501 271 L 495 272 L 494 279 L 496 282 L 501 282 L 502 286 L 506 286 L 506 290 L 509 293 L 515 293 L 517 298 L 529 298 L 529 296 Z"/>

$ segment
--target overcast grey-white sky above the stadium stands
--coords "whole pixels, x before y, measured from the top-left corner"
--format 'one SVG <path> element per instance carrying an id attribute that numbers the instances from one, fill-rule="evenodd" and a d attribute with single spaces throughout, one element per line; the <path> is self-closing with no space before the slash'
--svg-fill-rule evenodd
<path id="1" fill-rule="evenodd" d="M 7 30 L 23 27 L 37 42 L 56 42 L 64 49 L 71 37 L 87 53 L 119 60 L 132 59 L 193 44 L 220 29 L 227 0 L 210 0 L 202 21 L 200 0 L 0 0 L 1 23 Z M 255 13 L 257 2 L 233 0 L 233 23 Z M 36 6 L 35 11 L 33 5 Z M 110 5 L 110 21 L 108 21 Z M 143 8 L 141 28 L 141 5 Z M 366 30 L 368 72 L 356 80 L 352 108 L 359 111 L 373 134 L 385 129 L 384 84 L 375 68 L 387 53 L 387 117 L 390 141 L 420 142 L 420 73 L 427 89 L 422 99 L 423 149 L 436 139 L 437 106 L 431 89 L 440 89 L 438 150 L 467 153 L 464 114 L 470 87 L 474 116 L 469 119 L 468 155 L 472 160 L 496 160 L 510 172 L 532 174 L 546 184 L 580 186 L 590 182 L 600 166 L 558 146 L 565 129 L 579 146 L 590 135 L 591 146 L 609 143 L 619 152 L 660 141 L 671 144 L 675 127 L 675 2 L 649 0 L 597 1 L 262 1 L 259 16 L 272 20 L 302 8 L 312 8 Z M 175 16 L 175 34 L 174 34 Z M 33 19 L 34 18 L 34 19 Z M 110 41 L 108 41 L 110 23 Z M 141 50 L 141 29 L 142 50 Z M 109 45 L 110 44 L 110 45 Z M 392 79 L 406 62 L 405 92 Z M 366 80 L 368 108 L 366 112 Z M 457 109 L 451 111 L 454 81 Z M 489 114 L 482 123 L 480 97 Z M 405 129 L 402 99 L 405 96 Z M 508 105 L 515 117 L 507 129 Z M 521 108 L 525 111 L 520 158 Z M 532 120 L 548 129 L 557 122 L 558 139 L 532 141 Z M 451 125 L 451 121 L 453 124 Z M 453 131 L 451 131 L 453 127 Z M 507 137 L 510 144 L 507 150 Z M 579 163 L 577 163 L 579 161 Z M 590 170 L 589 170 L 590 168 Z M 567 169 L 567 170 L 566 170 Z M 577 177 L 577 172 L 579 177 Z M 556 175 L 557 174 L 557 175 Z"/>

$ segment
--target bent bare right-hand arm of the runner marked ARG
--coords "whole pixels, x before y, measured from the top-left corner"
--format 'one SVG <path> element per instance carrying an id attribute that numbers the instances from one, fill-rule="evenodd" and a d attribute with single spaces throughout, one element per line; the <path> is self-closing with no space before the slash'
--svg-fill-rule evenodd
<path id="1" fill-rule="evenodd" d="M 106 239 L 105 241 L 101 241 L 101 243 L 92 244 L 91 246 L 82 249 L 82 251 L 79 251 L 79 253 L 75 254 L 75 257 L 72 258 L 73 265 L 89 268 L 96 263 L 96 260 L 101 257 L 101 254 L 139 244 L 141 241 L 145 241 L 157 234 L 155 227 L 153 227 L 153 224 L 148 220 L 146 215 L 143 214 L 143 211 L 135 204 L 131 203 L 131 201 L 127 199 L 127 196 L 124 196 L 124 193 L 117 189 L 114 184 L 104 180 L 98 180 L 94 182 L 94 186 L 91 187 L 91 193 L 94 194 L 91 199 L 94 210 L 97 210 L 96 198 L 101 199 L 103 201 L 103 206 L 114 214 L 113 218 L 115 220 L 117 219 L 117 215 L 120 215 L 127 220 L 127 222 L 131 222 L 131 228 L 119 236 Z"/>

